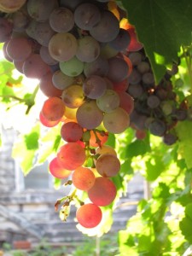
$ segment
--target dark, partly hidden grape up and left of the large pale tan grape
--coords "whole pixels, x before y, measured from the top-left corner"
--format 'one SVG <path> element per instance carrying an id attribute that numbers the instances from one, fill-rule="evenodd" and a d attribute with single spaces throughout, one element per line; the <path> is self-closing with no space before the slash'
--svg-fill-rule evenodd
<path id="1" fill-rule="evenodd" d="M 50 38 L 53 37 L 55 32 L 49 26 L 49 21 L 38 22 L 35 29 L 35 38 L 39 44 L 48 47 Z"/>

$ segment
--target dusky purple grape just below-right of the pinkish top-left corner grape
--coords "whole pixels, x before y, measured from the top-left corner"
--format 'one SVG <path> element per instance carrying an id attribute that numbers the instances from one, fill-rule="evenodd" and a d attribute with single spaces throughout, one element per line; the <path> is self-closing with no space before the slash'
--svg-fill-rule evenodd
<path id="1" fill-rule="evenodd" d="M 12 16 L 13 20 L 13 30 L 15 32 L 25 32 L 26 27 L 29 24 L 29 16 L 26 14 L 25 10 L 20 9 L 15 12 Z"/>

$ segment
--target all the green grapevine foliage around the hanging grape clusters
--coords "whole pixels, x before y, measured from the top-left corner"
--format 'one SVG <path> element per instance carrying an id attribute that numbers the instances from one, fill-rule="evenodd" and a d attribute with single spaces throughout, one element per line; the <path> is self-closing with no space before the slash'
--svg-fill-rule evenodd
<path id="1" fill-rule="evenodd" d="M 121 2 L 131 24 L 136 26 L 137 36 L 144 45 L 157 82 L 165 74 L 166 67 L 180 58 L 179 72 L 173 77 L 172 84 L 177 97 L 181 101 L 187 97 L 191 108 L 192 3 L 187 0 Z M 60 127 L 44 131 L 39 126 L 37 112 L 33 109 L 37 103 L 34 97 L 40 92 L 32 86 L 29 93 L 21 85 L 20 77 L 14 79 L 11 63 L 1 61 L 0 73 L 2 111 L 17 109 L 20 103 L 24 115 L 27 112 L 28 116 L 34 116 L 36 113 L 31 131 L 20 134 L 13 150 L 13 156 L 20 159 L 20 166 L 27 174 L 32 166 L 43 163 L 56 152 L 61 143 Z M 178 79 L 183 85 L 177 85 Z M 1 119 L 4 122 L 3 117 Z M 191 120 L 178 123 L 175 132 L 178 141 L 172 146 L 166 146 L 160 137 L 150 134 L 143 141 L 137 140 L 131 128 L 124 134 L 109 137 L 108 144 L 116 148 L 121 161 L 119 175 L 113 178 L 118 195 L 125 193 L 126 183 L 137 171 L 151 189 L 151 197 L 138 203 L 137 214 L 128 220 L 125 230 L 119 232 L 120 256 L 183 255 L 192 243 Z M 27 159 L 27 165 L 24 159 Z M 107 218 L 103 223 L 105 229 L 100 230 L 101 236 L 110 229 L 114 207 L 115 202 L 106 207 Z"/>

